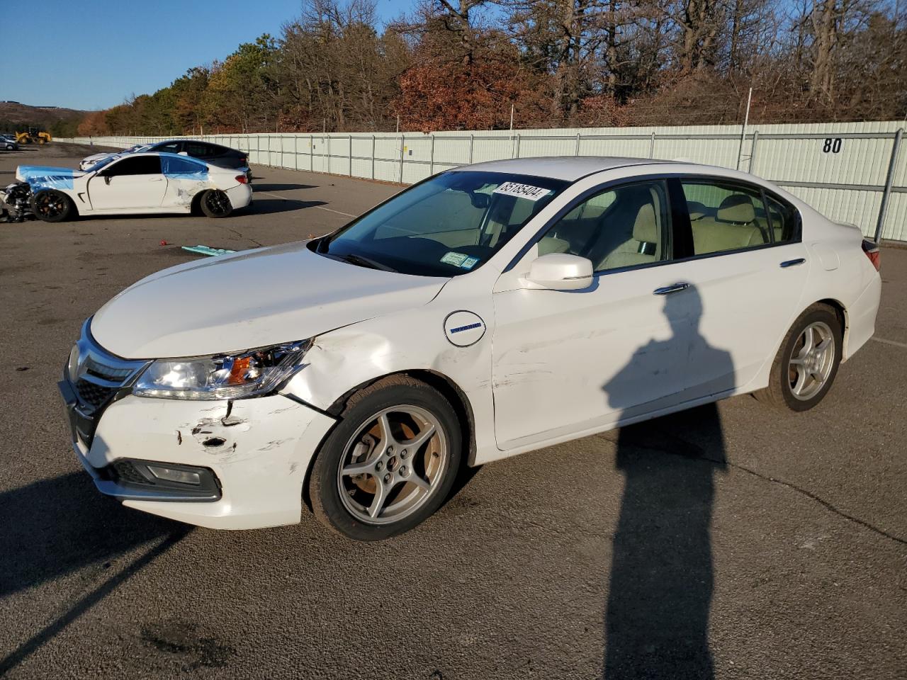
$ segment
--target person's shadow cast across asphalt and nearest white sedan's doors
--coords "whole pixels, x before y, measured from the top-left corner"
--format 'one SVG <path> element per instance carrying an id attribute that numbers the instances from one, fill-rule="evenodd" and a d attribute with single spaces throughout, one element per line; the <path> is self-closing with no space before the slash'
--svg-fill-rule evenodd
<path id="1" fill-rule="evenodd" d="M 669 295 L 664 313 L 674 335 L 640 347 L 603 387 L 610 406 L 622 413 L 634 405 L 632 394 L 609 388 L 628 384 L 629 374 L 650 365 L 652 353 L 692 371 L 686 384 L 708 380 L 710 393 L 734 384 L 730 355 L 708 345 L 699 332 L 697 290 Z M 687 366 L 688 357 L 693 365 Z M 697 367 L 704 365 L 707 375 L 699 375 Z M 714 677 L 708 641 L 711 520 L 714 478 L 726 468 L 725 460 L 714 403 L 619 430 L 616 467 L 625 484 L 605 612 L 605 678 Z"/>

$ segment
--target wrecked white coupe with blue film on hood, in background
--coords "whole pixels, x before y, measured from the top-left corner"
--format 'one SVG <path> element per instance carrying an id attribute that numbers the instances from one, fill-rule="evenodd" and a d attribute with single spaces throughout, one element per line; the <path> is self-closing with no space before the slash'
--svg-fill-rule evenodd
<path id="1" fill-rule="evenodd" d="M 20 165 L 15 178 L 28 183 L 34 215 L 45 222 L 195 209 L 223 218 L 252 199 L 245 172 L 172 153 L 112 156 L 85 171 Z"/>

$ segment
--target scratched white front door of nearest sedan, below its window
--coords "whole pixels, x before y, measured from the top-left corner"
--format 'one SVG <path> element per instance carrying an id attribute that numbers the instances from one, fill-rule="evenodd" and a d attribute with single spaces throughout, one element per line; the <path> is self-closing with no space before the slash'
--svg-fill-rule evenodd
<path id="1" fill-rule="evenodd" d="M 695 291 L 665 263 L 595 277 L 585 290 L 494 294 L 499 448 L 517 448 L 683 401 Z M 658 292 L 657 292 L 658 291 Z"/>

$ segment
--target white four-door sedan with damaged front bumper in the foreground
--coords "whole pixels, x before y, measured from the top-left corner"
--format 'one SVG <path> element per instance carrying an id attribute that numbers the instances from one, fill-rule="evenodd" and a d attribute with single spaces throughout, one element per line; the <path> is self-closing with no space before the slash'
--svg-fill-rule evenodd
<path id="1" fill-rule="evenodd" d="M 873 335 L 878 250 L 733 170 L 501 160 L 324 238 L 171 267 L 60 388 L 100 491 L 220 529 L 410 529 L 480 465 L 756 393 L 806 411 Z M 806 416 L 805 416 L 806 417 Z"/>

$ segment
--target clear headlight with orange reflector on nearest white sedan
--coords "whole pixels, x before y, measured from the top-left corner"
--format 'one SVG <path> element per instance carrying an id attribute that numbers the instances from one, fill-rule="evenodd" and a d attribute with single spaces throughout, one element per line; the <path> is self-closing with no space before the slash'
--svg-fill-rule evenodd
<path id="1" fill-rule="evenodd" d="M 311 341 L 252 349 L 237 355 L 159 359 L 132 393 L 165 399 L 241 399 L 271 392 L 302 367 Z"/>

